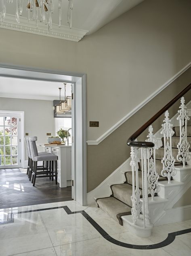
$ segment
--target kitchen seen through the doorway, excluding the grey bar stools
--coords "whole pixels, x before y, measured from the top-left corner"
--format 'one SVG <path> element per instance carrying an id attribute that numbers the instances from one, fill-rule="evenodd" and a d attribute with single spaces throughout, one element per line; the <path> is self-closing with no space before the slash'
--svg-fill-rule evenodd
<path id="1" fill-rule="evenodd" d="M 2 207 L 67 201 L 73 198 L 72 85 L 64 82 L 0 78 Z M 61 107 L 65 107 L 65 110 Z M 16 123 L 13 120 L 17 120 Z M 16 131 L 14 134 L 13 130 Z M 57 185 L 55 178 L 50 181 L 48 177 L 43 177 L 37 178 L 33 187 L 26 175 L 28 154 L 23 142 L 26 137 L 34 136 L 37 137 L 38 152 L 49 152 L 58 158 Z M 13 142 L 13 139 L 17 142 Z M 11 196 L 10 191 L 13 192 Z M 18 196 L 18 192 L 23 193 Z"/>

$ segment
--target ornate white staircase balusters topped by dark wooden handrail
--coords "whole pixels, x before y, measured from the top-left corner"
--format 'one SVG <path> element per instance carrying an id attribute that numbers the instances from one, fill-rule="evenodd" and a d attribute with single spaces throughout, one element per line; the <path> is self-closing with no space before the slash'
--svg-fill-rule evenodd
<path id="1" fill-rule="evenodd" d="M 169 119 L 168 109 L 181 98 L 181 105 L 178 110 L 179 120 L 179 136 L 178 142 L 178 154 L 176 160 L 182 162 L 183 167 L 187 161 L 191 160 L 191 154 L 189 153 L 190 144 L 187 141 L 187 121 L 189 120 L 187 107 L 185 106 L 185 98 L 183 95 L 191 89 L 189 84 L 182 92 L 174 97 L 166 106 L 158 111 L 148 122 L 146 122 L 139 130 L 137 130 L 128 139 L 127 145 L 131 147 L 131 162 L 130 166 L 132 169 L 132 226 L 135 228 L 145 228 L 151 230 L 153 224 L 150 222 L 149 217 L 149 195 L 151 194 L 151 200 L 155 200 L 155 195 L 159 192 L 160 187 L 158 185 L 158 179 L 160 176 L 166 178 L 168 183 L 176 175 L 176 169 L 174 167 L 175 158 L 172 155 L 172 137 L 174 130 L 172 129 L 171 120 Z M 164 124 L 162 124 L 161 134 L 163 135 L 163 147 L 164 156 L 161 160 L 162 170 L 158 174 L 156 171 L 156 150 L 159 149 L 157 146 L 157 139 L 153 134 L 152 123 L 164 113 Z M 136 138 L 149 127 L 149 134 L 146 141 L 136 141 Z M 175 134 L 176 135 L 176 134 Z M 141 152 L 140 152 L 141 150 Z M 141 154 L 140 154 L 141 153 Z M 142 200 L 141 191 L 139 189 L 139 162 L 141 160 L 141 171 L 142 171 Z"/>

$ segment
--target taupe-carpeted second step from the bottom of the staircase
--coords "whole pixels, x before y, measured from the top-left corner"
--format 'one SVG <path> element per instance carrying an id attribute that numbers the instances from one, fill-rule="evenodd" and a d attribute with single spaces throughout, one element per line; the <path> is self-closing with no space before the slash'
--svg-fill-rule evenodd
<path id="1" fill-rule="evenodd" d="M 132 186 L 127 183 L 123 184 L 116 184 L 111 186 L 111 190 L 113 193 L 113 197 L 117 198 L 118 200 L 126 203 L 130 207 L 132 207 Z"/>

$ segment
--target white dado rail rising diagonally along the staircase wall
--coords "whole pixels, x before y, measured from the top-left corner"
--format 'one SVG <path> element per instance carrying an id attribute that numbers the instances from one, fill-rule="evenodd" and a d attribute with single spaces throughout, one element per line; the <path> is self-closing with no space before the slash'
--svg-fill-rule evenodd
<path id="1" fill-rule="evenodd" d="M 138 106 L 136 106 L 132 111 L 130 111 L 127 115 L 125 115 L 120 121 L 118 121 L 114 126 L 112 126 L 109 130 L 104 132 L 97 140 L 87 141 L 88 145 L 98 145 L 101 143 L 107 136 L 109 136 L 112 132 L 114 132 L 118 127 L 120 127 L 124 122 L 126 122 L 132 115 L 134 115 L 137 111 L 139 111 L 142 107 L 144 107 L 150 100 L 152 100 L 157 94 L 162 92 L 168 85 L 170 85 L 174 80 L 176 80 L 179 76 L 181 76 L 187 69 L 191 67 L 191 62 L 187 64 L 184 68 L 182 68 L 176 75 L 170 78 L 166 83 L 164 83 L 159 89 L 153 92 L 149 97 L 143 100 Z"/>

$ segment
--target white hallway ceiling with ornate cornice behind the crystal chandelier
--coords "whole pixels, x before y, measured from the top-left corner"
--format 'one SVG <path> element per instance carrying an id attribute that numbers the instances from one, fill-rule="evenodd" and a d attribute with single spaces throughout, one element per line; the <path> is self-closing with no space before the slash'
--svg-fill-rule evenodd
<path id="1" fill-rule="evenodd" d="M 80 41 L 84 35 L 92 34 L 108 22 L 122 15 L 143 0 L 73 0 L 72 28 L 67 24 L 68 0 L 62 0 L 62 26 L 58 28 L 58 1 L 55 1 L 55 11 L 52 14 L 54 23 L 51 32 L 48 32 L 47 25 L 40 23 L 38 29 L 34 21 L 27 21 L 27 11 L 23 6 L 23 15 L 20 23 L 15 21 L 16 1 L 13 4 L 6 4 L 5 22 L 1 27 L 42 34 L 71 41 Z M 24 25 L 24 26 L 22 26 Z M 32 29 L 31 29 L 32 27 Z M 30 29 L 29 29 L 30 28 Z"/>

